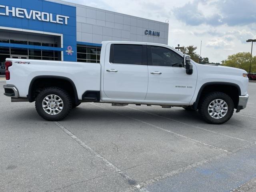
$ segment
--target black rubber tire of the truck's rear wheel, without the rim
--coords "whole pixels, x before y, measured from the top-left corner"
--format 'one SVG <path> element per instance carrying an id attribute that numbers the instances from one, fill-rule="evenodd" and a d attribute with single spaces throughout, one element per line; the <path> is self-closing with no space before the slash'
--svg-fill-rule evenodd
<path id="1" fill-rule="evenodd" d="M 63 108 L 61 112 L 55 115 L 48 114 L 44 111 L 44 108 L 42 106 L 42 102 L 44 98 L 48 95 L 55 94 L 63 101 Z M 72 100 L 70 98 L 70 95 L 68 92 L 62 88 L 59 87 L 48 87 L 44 88 L 36 97 L 36 111 L 38 114 L 48 121 L 60 121 L 64 119 L 72 109 Z"/>

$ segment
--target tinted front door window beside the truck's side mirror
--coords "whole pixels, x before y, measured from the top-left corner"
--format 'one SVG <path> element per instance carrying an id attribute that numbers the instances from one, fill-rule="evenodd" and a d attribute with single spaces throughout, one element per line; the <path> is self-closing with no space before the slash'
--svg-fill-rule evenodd
<path id="1" fill-rule="evenodd" d="M 170 49 L 158 46 L 151 46 L 151 62 L 152 66 L 167 66 L 167 67 L 183 67 L 183 58 Z M 149 59 L 150 60 L 150 59 Z"/>

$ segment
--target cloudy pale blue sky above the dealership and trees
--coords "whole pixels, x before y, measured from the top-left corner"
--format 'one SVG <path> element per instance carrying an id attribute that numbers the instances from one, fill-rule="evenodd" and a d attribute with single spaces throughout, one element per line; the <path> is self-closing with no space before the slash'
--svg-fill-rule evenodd
<path id="1" fill-rule="evenodd" d="M 169 20 L 168 45 L 197 46 L 202 57 L 221 62 L 251 52 L 256 39 L 256 0 L 65 0 L 132 16 Z M 252 53 L 256 55 L 256 43 Z"/>

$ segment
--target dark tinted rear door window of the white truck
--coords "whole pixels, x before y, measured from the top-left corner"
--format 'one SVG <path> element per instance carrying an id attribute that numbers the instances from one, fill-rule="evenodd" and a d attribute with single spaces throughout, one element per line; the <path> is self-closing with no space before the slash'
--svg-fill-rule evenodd
<path id="1" fill-rule="evenodd" d="M 115 44 L 112 48 L 113 63 L 142 65 L 142 45 Z"/>

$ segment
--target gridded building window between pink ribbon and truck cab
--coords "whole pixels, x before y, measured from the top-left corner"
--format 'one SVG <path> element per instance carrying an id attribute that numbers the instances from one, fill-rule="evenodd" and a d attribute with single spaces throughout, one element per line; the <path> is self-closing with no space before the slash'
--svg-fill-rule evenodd
<path id="1" fill-rule="evenodd" d="M 88 63 L 100 63 L 101 47 L 77 45 L 77 61 Z"/>

